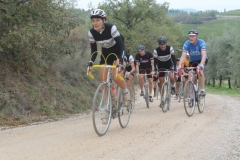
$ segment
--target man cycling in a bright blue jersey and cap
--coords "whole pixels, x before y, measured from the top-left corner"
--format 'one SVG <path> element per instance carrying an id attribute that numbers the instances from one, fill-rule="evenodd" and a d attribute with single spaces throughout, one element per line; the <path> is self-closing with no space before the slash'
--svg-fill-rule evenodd
<path id="1" fill-rule="evenodd" d="M 204 89 L 205 86 L 203 70 L 205 63 L 207 62 L 206 43 L 204 40 L 198 38 L 197 30 L 190 30 L 188 32 L 188 38 L 189 40 L 187 40 L 183 45 L 182 56 L 180 59 L 180 67 L 184 63 L 187 53 L 189 53 L 189 65 L 192 67 L 198 67 L 197 74 L 199 79 L 199 85 L 201 88 L 200 95 L 205 96 L 206 93 Z"/>

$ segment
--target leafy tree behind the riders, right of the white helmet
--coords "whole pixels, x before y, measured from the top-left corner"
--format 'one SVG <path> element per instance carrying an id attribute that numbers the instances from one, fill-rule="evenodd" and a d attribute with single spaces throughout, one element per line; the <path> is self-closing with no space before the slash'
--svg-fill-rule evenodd
<path id="1" fill-rule="evenodd" d="M 127 49 L 137 52 L 139 44 L 152 51 L 161 35 L 169 39 L 169 44 L 178 44 L 180 29 L 166 17 L 168 5 L 157 4 L 155 0 L 107 0 L 99 8 L 104 9 L 109 22 L 118 27 Z"/>

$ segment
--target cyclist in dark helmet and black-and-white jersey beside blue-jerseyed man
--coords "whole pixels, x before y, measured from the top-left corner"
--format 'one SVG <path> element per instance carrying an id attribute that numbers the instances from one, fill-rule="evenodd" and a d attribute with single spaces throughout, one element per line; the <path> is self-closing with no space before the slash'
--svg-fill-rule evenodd
<path id="1" fill-rule="evenodd" d="M 170 76 L 170 81 L 172 86 L 174 86 L 175 83 L 175 76 L 177 74 L 176 70 L 176 57 L 174 53 L 174 49 L 172 46 L 167 45 L 167 38 L 165 36 L 160 36 L 157 39 L 157 42 L 159 46 L 154 49 L 153 51 L 153 56 L 154 56 L 154 66 L 158 67 L 159 71 L 164 71 L 164 70 L 174 70 L 173 72 L 169 73 Z M 165 81 L 164 79 L 165 72 L 159 72 L 158 77 L 159 77 L 159 89 L 161 90 L 162 85 Z M 172 87 L 172 94 L 174 94 L 175 88 Z"/>

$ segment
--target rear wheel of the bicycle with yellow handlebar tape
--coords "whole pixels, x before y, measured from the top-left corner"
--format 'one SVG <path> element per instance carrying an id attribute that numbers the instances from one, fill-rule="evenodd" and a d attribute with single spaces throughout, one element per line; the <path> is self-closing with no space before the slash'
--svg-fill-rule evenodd
<path id="1" fill-rule="evenodd" d="M 128 85 L 127 88 L 129 89 Z M 126 128 L 132 113 L 132 103 L 130 103 L 129 106 L 125 106 L 123 102 L 123 93 L 120 88 L 118 93 L 118 120 L 120 126 Z"/>

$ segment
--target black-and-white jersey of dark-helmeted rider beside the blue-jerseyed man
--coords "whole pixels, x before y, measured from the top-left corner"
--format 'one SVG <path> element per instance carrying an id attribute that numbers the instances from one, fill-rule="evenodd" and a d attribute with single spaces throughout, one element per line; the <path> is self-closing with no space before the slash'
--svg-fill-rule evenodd
<path id="1" fill-rule="evenodd" d="M 174 66 L 176 68 L 176 58 L 174 49 L 171 46 L 166 47 L 166 50 L 162 51 L 160 47 L 157 47 L 153 51 L 154 66 L 158 69 L 170 69 Z"/>

